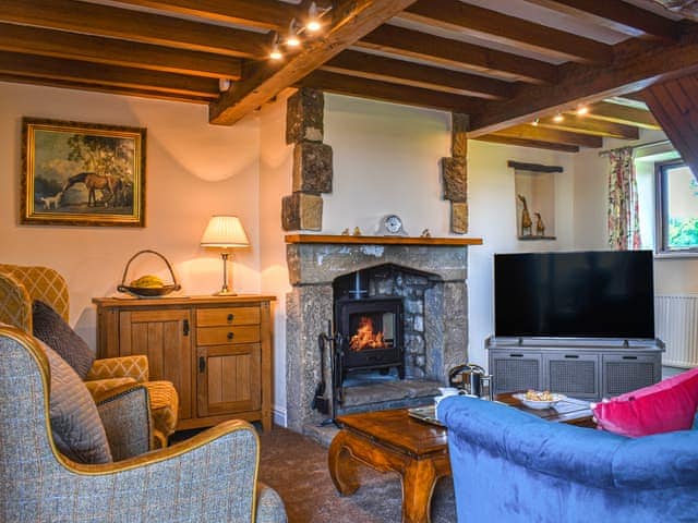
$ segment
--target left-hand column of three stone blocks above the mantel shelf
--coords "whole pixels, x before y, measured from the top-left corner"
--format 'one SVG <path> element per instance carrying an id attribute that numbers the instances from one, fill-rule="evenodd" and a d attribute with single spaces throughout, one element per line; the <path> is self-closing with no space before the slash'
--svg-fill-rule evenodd
<path id="1" fill-rule="evenodd" d="M 320 231 L 323 193 L 332 193 L 333 153 L 323 144 L 325 99 L 321 90 L 300 88 L 287 101 L 286 143 L 293 147 L 293 194 L 281 205 L 286 231 Z"/>

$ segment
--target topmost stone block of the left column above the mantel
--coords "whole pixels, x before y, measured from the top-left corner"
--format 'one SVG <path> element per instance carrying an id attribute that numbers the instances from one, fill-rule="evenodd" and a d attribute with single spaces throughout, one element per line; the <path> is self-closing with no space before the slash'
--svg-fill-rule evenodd
<path id="1" fill-rule="evenodd" d="M 286 143 L 322 142 L 324 110 L 322 90 L 300 88 L 286 102 Z"/>

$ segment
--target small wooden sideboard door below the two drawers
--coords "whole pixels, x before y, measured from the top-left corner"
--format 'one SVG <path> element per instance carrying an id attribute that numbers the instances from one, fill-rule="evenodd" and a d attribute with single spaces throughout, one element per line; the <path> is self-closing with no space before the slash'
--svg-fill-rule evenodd
<path id="1" fill-rule="evenodd" d="M 200 416 L 261 408 L 260 343 L 200 346 L 196 358 Z"/>

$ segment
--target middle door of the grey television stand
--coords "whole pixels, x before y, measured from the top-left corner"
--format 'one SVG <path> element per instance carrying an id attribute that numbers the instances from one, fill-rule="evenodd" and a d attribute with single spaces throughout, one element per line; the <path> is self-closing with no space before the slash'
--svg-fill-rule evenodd
<path id="1" fill-rule="evenodd" d="M 601 399 L 598 354 L 578 352 L 543 355 L 544 385 L 551 392 L 586 400 Z"/>

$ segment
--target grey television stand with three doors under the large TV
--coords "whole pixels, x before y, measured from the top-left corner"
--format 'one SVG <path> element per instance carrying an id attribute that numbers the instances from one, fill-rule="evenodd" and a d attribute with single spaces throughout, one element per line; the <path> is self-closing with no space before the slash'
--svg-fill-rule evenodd
<path id="1" fill-rule="evenodd" d="M 662 378 L 661 340 L 490 337 L 485 349 L 495 394 L 535 389 L 600 401 Z"/>

